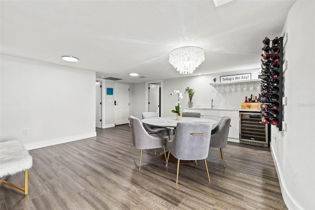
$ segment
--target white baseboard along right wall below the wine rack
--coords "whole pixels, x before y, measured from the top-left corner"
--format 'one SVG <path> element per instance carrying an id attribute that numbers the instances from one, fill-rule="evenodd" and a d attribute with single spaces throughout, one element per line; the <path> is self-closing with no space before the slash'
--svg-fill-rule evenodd
<path id="1" fill-rule="evenodd" d="M 282 197 L 284 199 L 284 203 L 286 207 L 289 210 L 302 210 L 302 208 L 295 202 L 295 200 L 291 197 L 290 193 L 287 191 L 281 169 L 279 168 L 279 165 L 278 165 L 277 156 L 274 153 L 272 144 L 270 144 L 270 151 L 271 151 L 271 155 L 274 160 L 275 167 L 276 167 L 280 189 L 281 189 Z"/>

